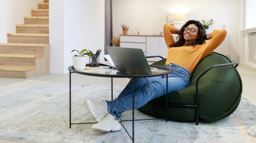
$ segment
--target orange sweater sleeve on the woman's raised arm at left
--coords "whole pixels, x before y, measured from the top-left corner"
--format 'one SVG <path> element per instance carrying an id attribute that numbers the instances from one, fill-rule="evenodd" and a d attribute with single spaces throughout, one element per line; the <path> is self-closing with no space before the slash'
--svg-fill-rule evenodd
<path id="1" fill-rule="evenodd" d="M 169 45 L 174 43 L 174 39 L 172 34 L 175 34 L 176 30 L 173 24 L 164 24 L 163 26 L 163 37 L 166 43 L 167 48 L 169 49 Z"/>

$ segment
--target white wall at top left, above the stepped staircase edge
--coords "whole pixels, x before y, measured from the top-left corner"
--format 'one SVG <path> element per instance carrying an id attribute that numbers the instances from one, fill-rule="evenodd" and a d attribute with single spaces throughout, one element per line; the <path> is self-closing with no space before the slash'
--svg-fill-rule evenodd
<path id="1" fill-rule="evenodd" d="M 7 43 L 7 33 L 16 33 L 16 24 L 24 24 L 24 16 L 38 9 L 43 0 L 0 0 L 0 43 Z"/>

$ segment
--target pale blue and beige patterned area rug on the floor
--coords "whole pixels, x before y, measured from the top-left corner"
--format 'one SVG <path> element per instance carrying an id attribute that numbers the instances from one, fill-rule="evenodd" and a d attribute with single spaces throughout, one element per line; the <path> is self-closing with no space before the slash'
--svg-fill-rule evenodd
<path id="1" fill-rule="evenodd" d="M 114 97 L 124 86 L 114 86 Z M 111 86 L 72 83 L 72 122 L 95 122 L 83 99 L 111 100 Z M 132 142 L 118 132 L 91 131 L 93 124 L 69 128 L 69 83 L 27 80 L 0 87 L 0 138 L 29 142 Z M 135 111 L 136 119 L 151 119 Z M 122 119 L 131 119 L 132 112 Z M 135 122 L 135 142 L 256 142 L 256 106 L 243 95 L 237 110 L 215 122 L 182 123 L 165 120 Z M 132 122 L 122 122 L 132 135 Z"/>

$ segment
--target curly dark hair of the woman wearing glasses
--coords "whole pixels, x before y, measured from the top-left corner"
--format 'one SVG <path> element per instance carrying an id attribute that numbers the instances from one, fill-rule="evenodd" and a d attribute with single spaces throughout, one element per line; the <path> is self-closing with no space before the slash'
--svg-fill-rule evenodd
<path id="1" fill-rule="evenodd" d="M 203 24 L 201 24 L 199 21 L 195 20 L 189 20 L 187 21 L 180 30 L 179 35 L 176 38 L 176 42 L 172 45 L 169 45 L 169 47 L 181 47 L 185 45 L 185 39 L 184 39 L 184 27 L 188 26 L 189 24 L 195 24 L 198 27 L 198 37 L 196 40 L 189 41 L 186 46 L 196 46 L 196 45 L 202 45 L 205 43 L 204 35 L 205 35 L 205 29 L 203 27 Z"/>

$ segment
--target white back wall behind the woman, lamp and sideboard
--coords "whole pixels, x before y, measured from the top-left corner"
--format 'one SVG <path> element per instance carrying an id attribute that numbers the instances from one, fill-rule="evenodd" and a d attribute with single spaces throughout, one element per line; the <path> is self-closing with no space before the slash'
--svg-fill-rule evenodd
<path id="1" fill-rule="evenodd" d="M 140 35 L 159 35 L 168 13 L 168 24 L 177 27 L 179 24 L 173 23 L 174 13 L 186 14 L 186 21 L 213 19 L 215 24 L 209 28 L 211 31 L 222 29 L 225 24 L 227 34 L 230 35 L 231 59 L 238 61 L 239 0 L 112 0 L 112 8 L 114 37 L 122 34 L 120 25 L 123 23 L 130 27 L 128 35 L 135 28 L 139 29 Z"/>

